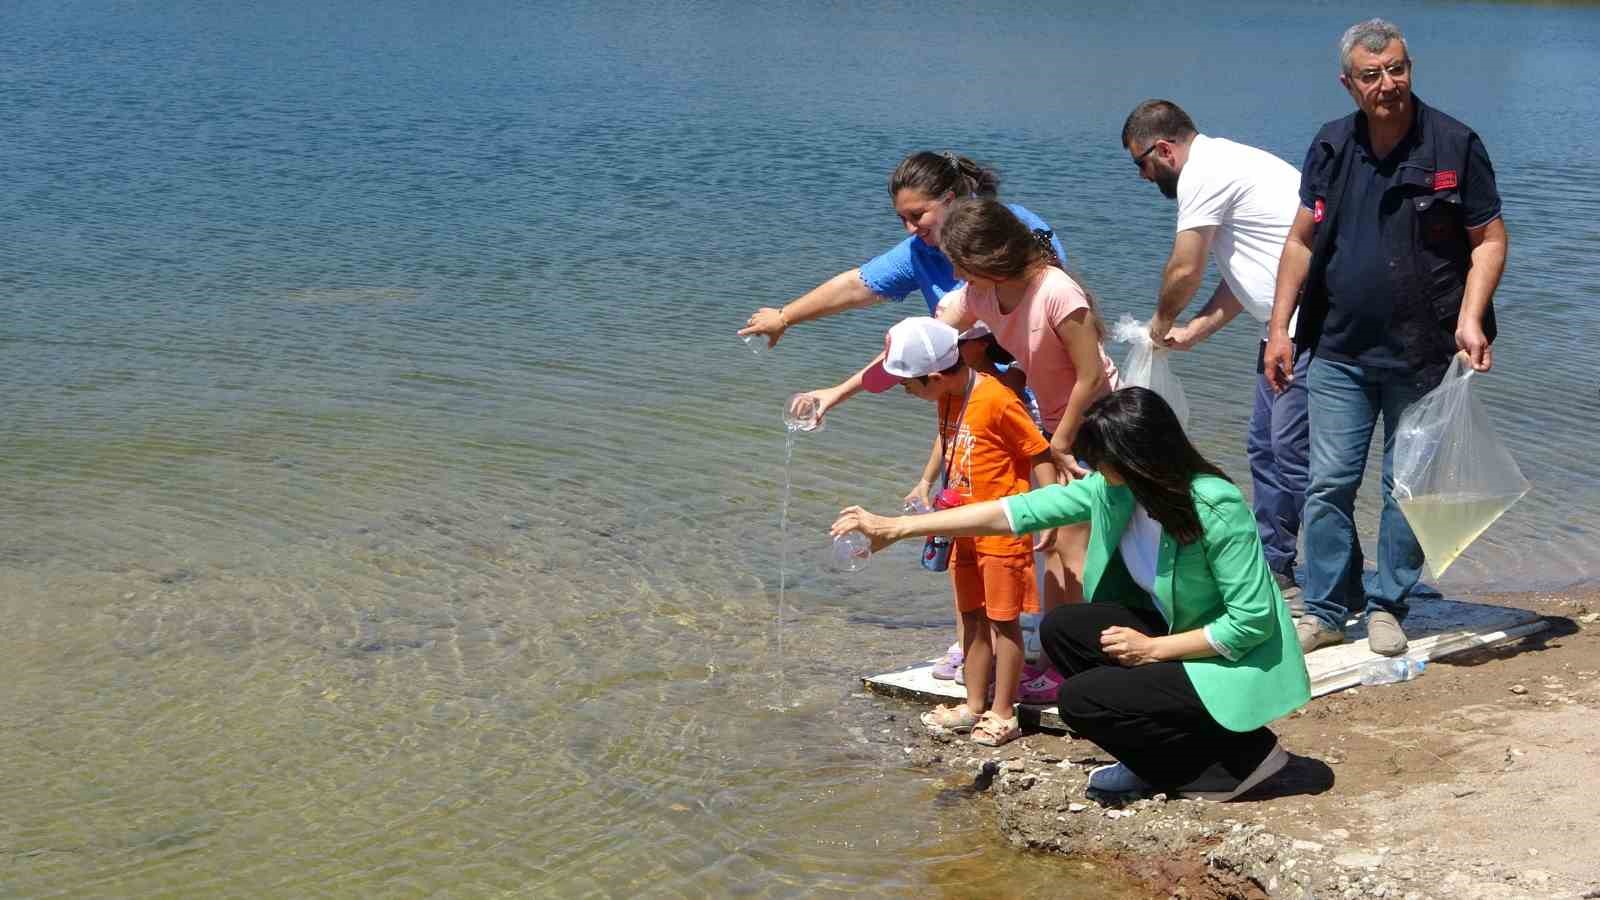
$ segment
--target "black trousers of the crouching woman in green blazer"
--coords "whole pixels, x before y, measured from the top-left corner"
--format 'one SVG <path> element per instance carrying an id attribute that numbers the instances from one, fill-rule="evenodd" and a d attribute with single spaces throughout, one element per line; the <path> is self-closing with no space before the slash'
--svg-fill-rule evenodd
<path id="1" fill-rule="evenodd" d="M 1242 780 L 1272 753 L 1277 737 L 1270 730 L 1219 725 L 1182 663 L 1128 668 L 1107 657 L 1099 636 L 1114 625 L 1166 634 L 1160 613 L 1117 604 L 1056 607 L 1038 626 L 1040 645 L 1067 679 L 1059 695 L 1067 727 L 1162 790 L 1190 785 L 1203 773 L 1218 777 L 1213 765 Z"/>

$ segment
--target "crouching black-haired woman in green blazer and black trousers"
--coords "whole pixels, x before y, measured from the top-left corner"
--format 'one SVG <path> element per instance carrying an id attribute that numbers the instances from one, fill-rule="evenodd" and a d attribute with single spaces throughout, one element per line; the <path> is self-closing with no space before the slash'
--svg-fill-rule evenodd
<path id="1" fill-rule="evenodd" d="M 1232 799 L 1283 767 L 1266 724 L 1310 700 L 1250 504 L 1144 388 L 1096 400 L 1074 453 L 1094 474 L 926 516 L 851 506 L 832 530 L 859 530 L 877 549 L 1090 522 L 1088 602 L 1040 625 L 1045 653 L 1067 674 L 1062 721 L 1118 761 L 1094 770 L 1090 790 Z"/>

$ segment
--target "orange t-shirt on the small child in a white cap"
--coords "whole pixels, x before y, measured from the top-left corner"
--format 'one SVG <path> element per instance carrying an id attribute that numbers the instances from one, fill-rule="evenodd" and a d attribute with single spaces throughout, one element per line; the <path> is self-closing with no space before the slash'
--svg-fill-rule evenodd
<path id="1" fill-rule="evenodd" d="M 1050 448 L 1027 407 L 998 380 L 974 373 L 971 396 L 939 400 L 939 429 L 944 436 L 946 484 L 966 503 L 1000 500 L 1029 490 L 1034 456 Z M 1032 552 L 1027 535 L 976 538 L 986 556 Z"/>

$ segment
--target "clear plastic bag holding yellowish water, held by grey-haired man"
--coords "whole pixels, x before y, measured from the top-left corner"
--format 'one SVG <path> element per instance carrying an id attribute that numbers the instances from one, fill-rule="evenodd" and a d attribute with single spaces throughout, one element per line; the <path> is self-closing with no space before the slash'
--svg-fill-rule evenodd
<path id="1" fill-rule="evenodd" d="M 1394 498 L 1434 578 L 1531 487 L 1472 392 L 1472 375 L 1467 354 L 1456 354 L 1438 388 L 1395 426 Z"/>

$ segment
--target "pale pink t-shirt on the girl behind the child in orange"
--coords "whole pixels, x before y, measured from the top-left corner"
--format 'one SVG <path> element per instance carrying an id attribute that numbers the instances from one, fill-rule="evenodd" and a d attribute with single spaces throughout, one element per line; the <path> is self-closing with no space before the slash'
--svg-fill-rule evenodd
<path id="1" fill-rule="evenodd" d="M 1067 410 L 1067 397 L 1078 381 L 1078 370 L 1072 365 L 1067 346 L 1056 335 L 1056 327 L 1067 315 L 1090 307 L 1083 288 L 1061 269 L 1046 266 L 1043 275 L 1034 279 L 1022 295 L 1022 303 L 1011 312 L 1000 312 L 994 288 L 973 285 L 947 293 L 939 306 L 958 314 L 958 327 L 963 330 L 976 320 L 989 325 L 1000 346 L 1014 356 L 1016 364 L 1027 373 L 1027 386 L 1038 399 L 1038 415 L 1045 421 L 1045 431 L 1054 432 L 1061 424 L 1061 413 Z M 1115 391 L 1117 367 L 1106 356 L 1106 348 L 1099 348 L 1099 354 L 1106 383 Z"/>

